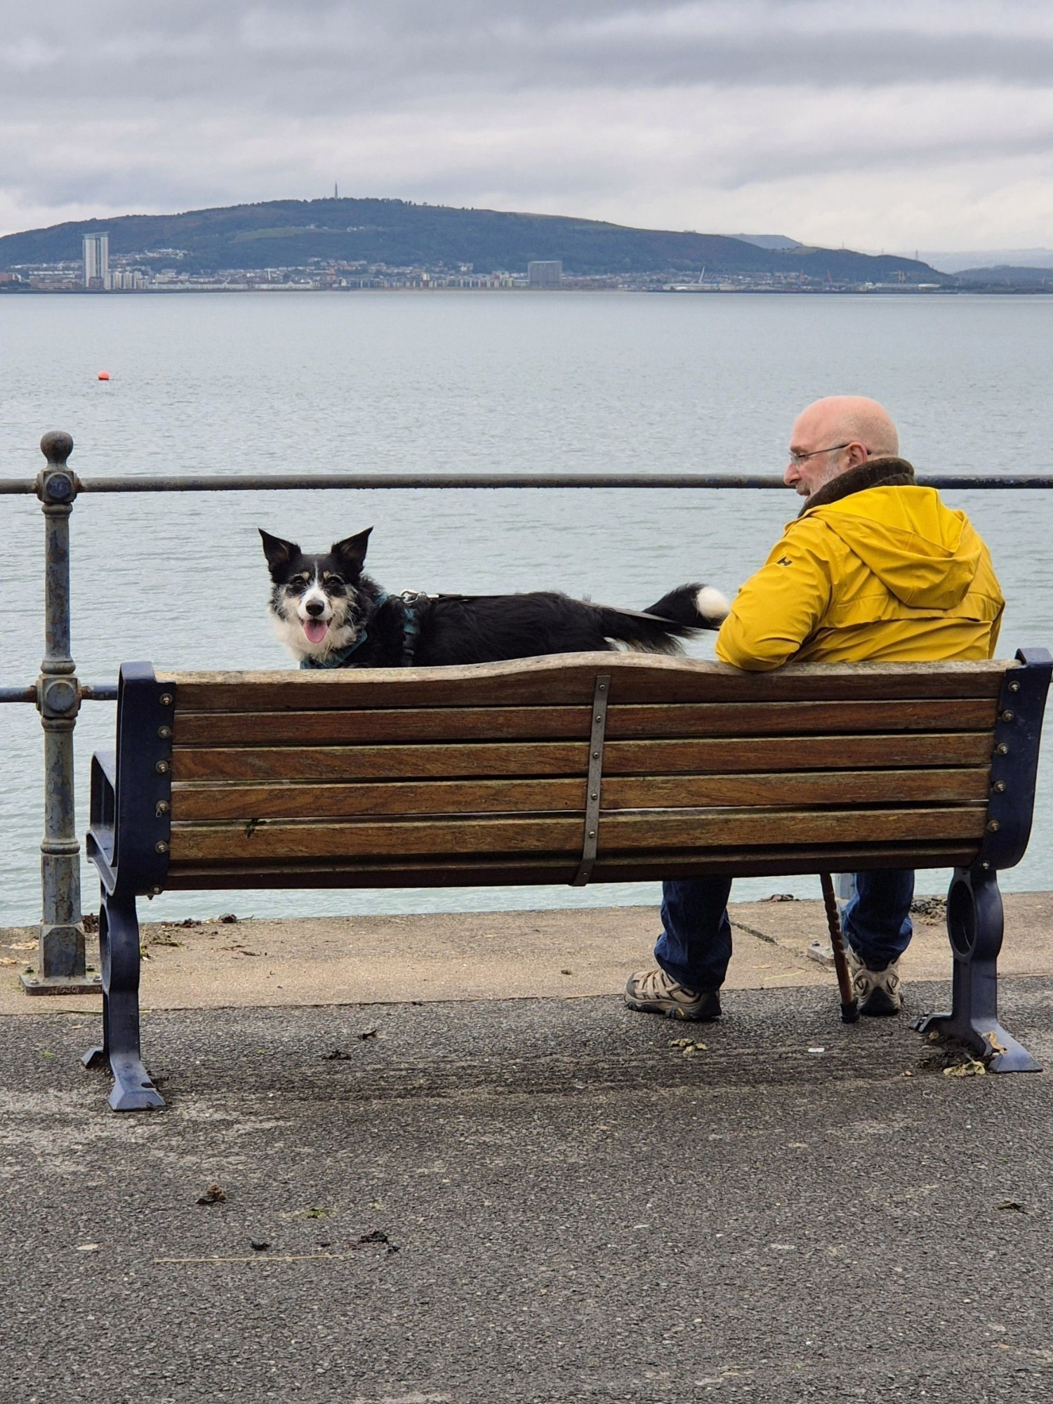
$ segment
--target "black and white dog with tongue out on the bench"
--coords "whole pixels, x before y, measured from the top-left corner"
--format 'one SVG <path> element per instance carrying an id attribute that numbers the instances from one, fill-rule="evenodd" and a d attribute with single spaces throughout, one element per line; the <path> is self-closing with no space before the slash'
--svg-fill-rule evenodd
<path id="1" fill-rule="evenodd" d="M 717 629 L 727 601 L 681 585 L 644 614 L 556 592 L 390 595 L 362 573 L 369 532 L 324 556 L 260 529 L 271 571 L 271 618 L 302 668 L 446 667 L 545 653 L 632 649 L 678 653 L 680 640 Z"/>

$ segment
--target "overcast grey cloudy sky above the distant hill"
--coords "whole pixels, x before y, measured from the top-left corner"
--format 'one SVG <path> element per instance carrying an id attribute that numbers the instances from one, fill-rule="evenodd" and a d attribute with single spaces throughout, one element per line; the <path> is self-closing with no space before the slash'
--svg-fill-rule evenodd
<path id="1" fill-rule="evenodd" d="M 1053 244 L 1049 0 L 0 0 L 0 232 L 396 195 Z"/>

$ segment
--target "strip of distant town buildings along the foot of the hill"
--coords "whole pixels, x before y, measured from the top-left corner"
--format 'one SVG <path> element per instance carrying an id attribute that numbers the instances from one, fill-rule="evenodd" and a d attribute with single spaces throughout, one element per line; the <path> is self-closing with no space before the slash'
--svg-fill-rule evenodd
<path id="1" fill-rule="evenodd" d="M 534 260 L 525 272 L 476 272 L 472 264 L 389 267 L 385 263 L 309 258 L 298 267 L 187 270 L 187 250 L 152 249 L 111 257 L 110 236 L 83 236 L 80 261 L 35 263 L 0 272 L 0 285 L 34 292 L 323 292 L 341 289 L 427 291 L 442 288 L 622 289 L 630 292 L 935 292 L 945 282 L 910 279 L 903 271 L 887 282 L 837 281 L 804 272 L 717 271 L 684 281 L 684 274 L 629 272 L 567 275 L 557 258 Z M 20 289 L 21 291 L 21 289 Z M 953 291 L 953 289 L 946 289 Z"/>

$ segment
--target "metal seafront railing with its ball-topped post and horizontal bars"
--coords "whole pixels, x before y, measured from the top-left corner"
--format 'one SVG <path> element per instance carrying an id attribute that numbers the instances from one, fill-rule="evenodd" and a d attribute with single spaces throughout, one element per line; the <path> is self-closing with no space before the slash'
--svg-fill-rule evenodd
<path id="1" fill-rule="evenodd" d="M 80 910 L 80 842 L 74 813 L 73 731 L 81 702 L 112 702 L 115 685 L 77 678 L 70 640 L 69 529 L 81 493 L 244 493 L 289 489 L 782 489 L 781 475 L 717 473 L 232 473 L 149 475 L 81 479 L 69 468 L 73 439 L 53 431 L 41 439 L 46 468 L 34 479 L 0 479 L 0 496 L 35 496 L 44 511 L 44 637 L 35 684 L 0 687 L 0 702 L 35 702 L 44 727 L 44 838 L 41 841 L 39 952 L 27 994 L 77 994 L 98 987 L 86 966 Z M 939 475 L 917 477 L 921 487 L 1053 489 L 1053 473 L 995 477 Z"/>

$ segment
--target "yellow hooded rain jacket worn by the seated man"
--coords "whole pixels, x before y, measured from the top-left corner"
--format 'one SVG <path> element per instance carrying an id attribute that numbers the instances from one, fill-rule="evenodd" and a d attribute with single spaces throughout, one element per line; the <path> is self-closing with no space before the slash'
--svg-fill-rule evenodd
<path id="1" fill-rule="evenodd" d="M 736 595 L 717 658 L 753 671 L 990 658 L 1005 605 L 990 552 L 913 475 L 903 459 L 872 459 L 813 494 Z M 868 486 L 889 477 L 896 486 Z"/>

